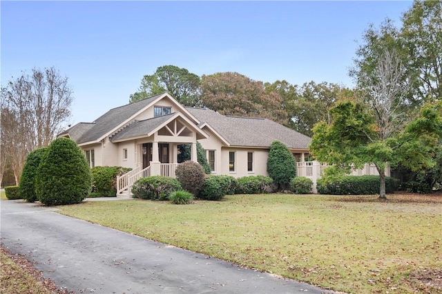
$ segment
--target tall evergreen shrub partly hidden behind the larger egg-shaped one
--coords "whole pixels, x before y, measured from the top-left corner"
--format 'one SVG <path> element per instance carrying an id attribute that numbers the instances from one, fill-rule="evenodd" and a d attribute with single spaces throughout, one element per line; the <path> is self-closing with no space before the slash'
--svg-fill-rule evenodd
<path id="1" fill-rule="evenodd" d="M 48 154 L 49 148 L 43 147 L 31 151 L 26 158 L 23 171 L 21 172 L 19 190 L 21 198 L 28 202 L 37 201 L 37 193 L 35 193 L 35 182 L 37 180 L 37 169 L 41 160 Z"/>

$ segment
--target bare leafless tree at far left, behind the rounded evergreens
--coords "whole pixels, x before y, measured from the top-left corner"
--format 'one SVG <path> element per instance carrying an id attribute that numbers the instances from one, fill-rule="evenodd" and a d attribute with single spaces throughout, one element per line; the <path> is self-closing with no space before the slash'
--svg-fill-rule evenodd
<path id="1" fill-rule="evenodd" d="M 68 78 L 54 67 L 33 69 L 1 88 L 1 143 L 20 180 L 26 156 L 46 147 L 64 128 L 73 101 Z"/>

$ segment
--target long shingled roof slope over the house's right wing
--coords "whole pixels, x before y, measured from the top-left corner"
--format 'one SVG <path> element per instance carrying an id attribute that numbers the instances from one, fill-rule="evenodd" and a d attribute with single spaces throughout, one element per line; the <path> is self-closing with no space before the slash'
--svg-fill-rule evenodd
<path id="1" fill-rule="evenodd" d="M 223 116 L 207 108 L 186 108 L 202 122 L 200 127 L 209 125 L 229 146 L 269 147 L 278 140 L 291 149 L 308 149 L 311 143 L 308 136 L 267 118 Z"/>

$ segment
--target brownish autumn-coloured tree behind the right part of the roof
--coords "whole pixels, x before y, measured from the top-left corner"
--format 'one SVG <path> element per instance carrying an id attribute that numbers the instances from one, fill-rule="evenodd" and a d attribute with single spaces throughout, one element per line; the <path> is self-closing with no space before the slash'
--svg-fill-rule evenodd
<path id="1" fill-rule="evenodd" d="M 266 92 L 264 84 L 237 72 L 219 72 L 202 76 L 202 103 L 227 116 L 269 118 L 286 123 L 282 98 L 277 92 Z"/>

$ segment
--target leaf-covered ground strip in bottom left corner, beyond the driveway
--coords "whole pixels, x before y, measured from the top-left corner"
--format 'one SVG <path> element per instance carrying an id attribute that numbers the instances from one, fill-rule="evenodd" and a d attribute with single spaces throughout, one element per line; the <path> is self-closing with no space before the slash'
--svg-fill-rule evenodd
<path id="1" fill-rule="evenodd" d="M 51 293 L 56 293 L 56 294 L 72 294 L 73 293 L 73 292 L 68 292 L 63 288 L 59 288 L 54 282 L 52 282 L 52 280 L 46 279 L 43 276 L 43 273 L 41 273 L 41 271 L 37 271 L 34 268 L 34 263 L 30 262 L 29 260 L 26 259 L 25 255 L 11 253 L 10 251 L 8 251 L 8 249 L 6 249 L 4 247 L 0 247 L 0 252 L 3 253 L 4 255 L 8 256 L 8 258 L 10 258 L 12 261 L 14 261 L 17 265 L 19 265 L 21 267 L 21 269 L 23 269 L 23 271 L 28 273 L 28 275 L 31 275 L 32 277 L 34 277 L 35 280 L 37 280 L 37 282 L 39 282 L 42 286 L 44 286 L 46 289 L 48 289 L 48 291 L 50 291 Z"/>

